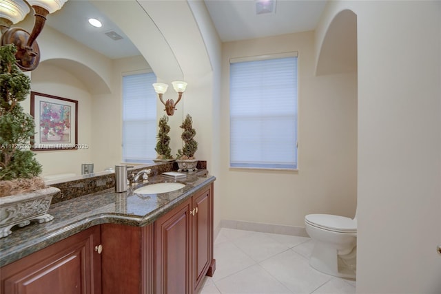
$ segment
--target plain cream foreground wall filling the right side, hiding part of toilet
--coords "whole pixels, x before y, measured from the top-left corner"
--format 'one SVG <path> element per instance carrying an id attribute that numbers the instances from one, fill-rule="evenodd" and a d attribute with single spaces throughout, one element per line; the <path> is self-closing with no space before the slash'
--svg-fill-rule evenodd
<path id="1" fill-rule="evenodd" d="M 331 1 L 357 14 L 357 293 L 441 293 L 441 3 Z"/>

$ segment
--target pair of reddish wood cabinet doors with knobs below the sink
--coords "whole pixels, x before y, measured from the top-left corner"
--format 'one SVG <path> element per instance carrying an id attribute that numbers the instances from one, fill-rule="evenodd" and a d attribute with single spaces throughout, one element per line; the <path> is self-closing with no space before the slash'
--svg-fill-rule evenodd
<path id="1" fill-rule="evenodd" d="M 155 293 L 194 293 L 214 273 L 213 186 L 154 223 Z"/>

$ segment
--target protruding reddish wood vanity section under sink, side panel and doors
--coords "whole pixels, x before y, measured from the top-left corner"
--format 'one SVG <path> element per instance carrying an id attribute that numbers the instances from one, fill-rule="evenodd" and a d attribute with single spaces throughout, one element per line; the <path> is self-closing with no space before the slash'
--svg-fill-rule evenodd
<path id="1" fill-rule="evenodd" d="M 103 293 L 194 293 L 214 273 L 213 187 L 153 224 L 101 224 Z"/>

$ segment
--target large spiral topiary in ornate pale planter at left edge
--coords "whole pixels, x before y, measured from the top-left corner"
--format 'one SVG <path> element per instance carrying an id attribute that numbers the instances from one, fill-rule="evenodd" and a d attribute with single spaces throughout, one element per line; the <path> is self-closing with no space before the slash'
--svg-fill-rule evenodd
<path id="1" fill-rule="evenodd" d="M 15 45 L 0 47 L 0 238 L 16 224 L 48 222 L 52 196 L 59 189 L 45 187 L 41 165 L 29 150 L 34 118 L 20 102 L 30 92 L 30 78 L 16 65 Z"/>

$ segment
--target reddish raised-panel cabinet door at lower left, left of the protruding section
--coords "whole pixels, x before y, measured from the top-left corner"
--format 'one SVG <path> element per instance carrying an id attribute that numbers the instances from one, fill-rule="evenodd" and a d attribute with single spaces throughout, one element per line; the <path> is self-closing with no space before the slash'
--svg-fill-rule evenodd
<path id="1" fill-rule="evenodd" d="M 99 226 L 3 266 L 1 292 L 5 294 L 101 293 Z"/>

